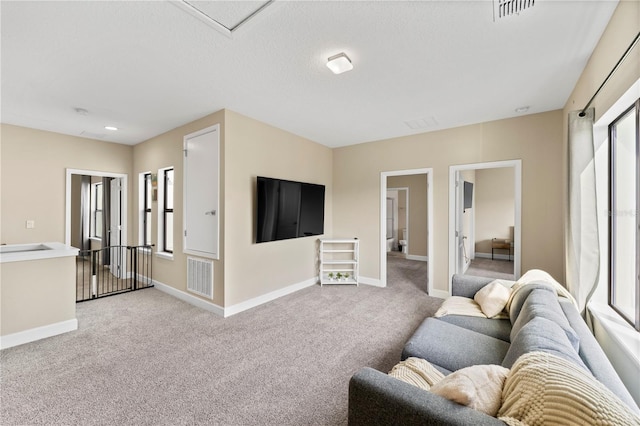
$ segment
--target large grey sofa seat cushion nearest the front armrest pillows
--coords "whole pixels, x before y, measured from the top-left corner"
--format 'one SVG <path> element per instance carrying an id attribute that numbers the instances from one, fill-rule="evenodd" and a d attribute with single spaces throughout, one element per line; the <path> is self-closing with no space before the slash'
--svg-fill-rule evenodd
<path id="1" fill-rule="evenodd" d="M 402 359 L 426 359 L 450 371 L 477 364 L 500 365 L 509 344 L 495 337 L 427 318 L 407 341 Z"/>

